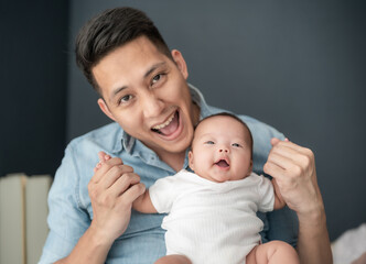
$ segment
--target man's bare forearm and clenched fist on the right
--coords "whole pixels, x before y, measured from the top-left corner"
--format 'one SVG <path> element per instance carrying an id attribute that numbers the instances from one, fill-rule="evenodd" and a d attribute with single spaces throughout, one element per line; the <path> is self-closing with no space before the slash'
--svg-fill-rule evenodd
<path id="1" fill-rule="evenodd" d="M 332 251 L 314 155 L 309 148 L 272 139 L 265 173 L 276 178 L 287 205 L 299 218 L 298 253 L 302 264 L 331 264 Z"/>

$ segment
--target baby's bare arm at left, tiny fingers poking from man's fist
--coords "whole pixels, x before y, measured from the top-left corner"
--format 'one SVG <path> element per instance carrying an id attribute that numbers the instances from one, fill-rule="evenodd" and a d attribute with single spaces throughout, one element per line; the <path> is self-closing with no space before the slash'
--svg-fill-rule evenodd
<path id="1" fill-rule="evenodd" d="M 104 152 L 99 152 L 98 156 L 99 156 L 99 163 L 95 166 L 94 172 L 97 172 L 104 165 L 104 162 L 110 158 L 110 156 Z M 133 201 L 132 208 L 139 212 L 144 212 L 144 213 L 158 212 L 151 202 L 149 190 L 144 190 L 144 193 Z"/>

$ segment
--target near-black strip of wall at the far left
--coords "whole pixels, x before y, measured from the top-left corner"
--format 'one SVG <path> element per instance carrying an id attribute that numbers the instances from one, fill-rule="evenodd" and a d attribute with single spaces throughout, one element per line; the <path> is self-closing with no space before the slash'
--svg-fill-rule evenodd
<path id="1" fill-rule="evenodd" d="M 67 25 L 67 1 L 0 1 L 0 176 L 53 175 L 60 165 Z"/>

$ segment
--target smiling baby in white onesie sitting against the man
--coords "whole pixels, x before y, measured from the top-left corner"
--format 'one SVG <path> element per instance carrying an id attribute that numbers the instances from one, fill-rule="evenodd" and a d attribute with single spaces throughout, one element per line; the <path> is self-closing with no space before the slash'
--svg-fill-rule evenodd
<path id="1" fill-rule="evenodd" d="M 251 172 L 251 133 L 235 116 L 214 114 L 197 124 L 189 153 L 195 173 L 161 178 L 133 202 L 140 212 L 169 213 L 162 222 L 166 256 L 155 263 L 300 263 L 291 245 L 260 242 L 263 223 L 256 212 L 286 202 L 274 179 Z"/>

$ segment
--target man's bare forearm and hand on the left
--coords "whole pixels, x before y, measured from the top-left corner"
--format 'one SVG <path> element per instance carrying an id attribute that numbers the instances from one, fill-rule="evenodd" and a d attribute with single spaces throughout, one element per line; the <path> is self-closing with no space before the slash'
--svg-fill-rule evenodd
<path id="1" fill-rule="evenodd" d="M 104 162 L 88 184 L 94 219 L 72 253 L 56 263 L 105 263 L 114 241 L 127 229 L 132 202 L 144 191 L 140 177 L 120 158 Z"/>

